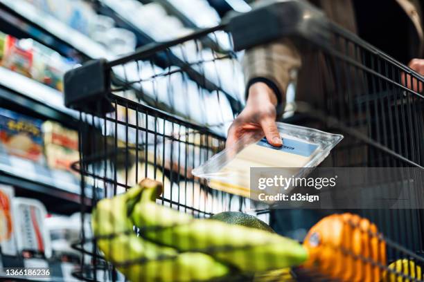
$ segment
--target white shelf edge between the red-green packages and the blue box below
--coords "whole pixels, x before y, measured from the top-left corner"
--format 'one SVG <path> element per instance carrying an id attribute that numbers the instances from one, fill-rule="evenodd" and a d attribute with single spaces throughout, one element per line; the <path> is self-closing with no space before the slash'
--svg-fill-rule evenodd
<path id="1" fill-rule="evenodd" d="M 64 106 L 60 91 L 1 66 L 0 97 L 64 124 L 75 126 L 74 122 L 79 118 L 77 111 Z"/>

